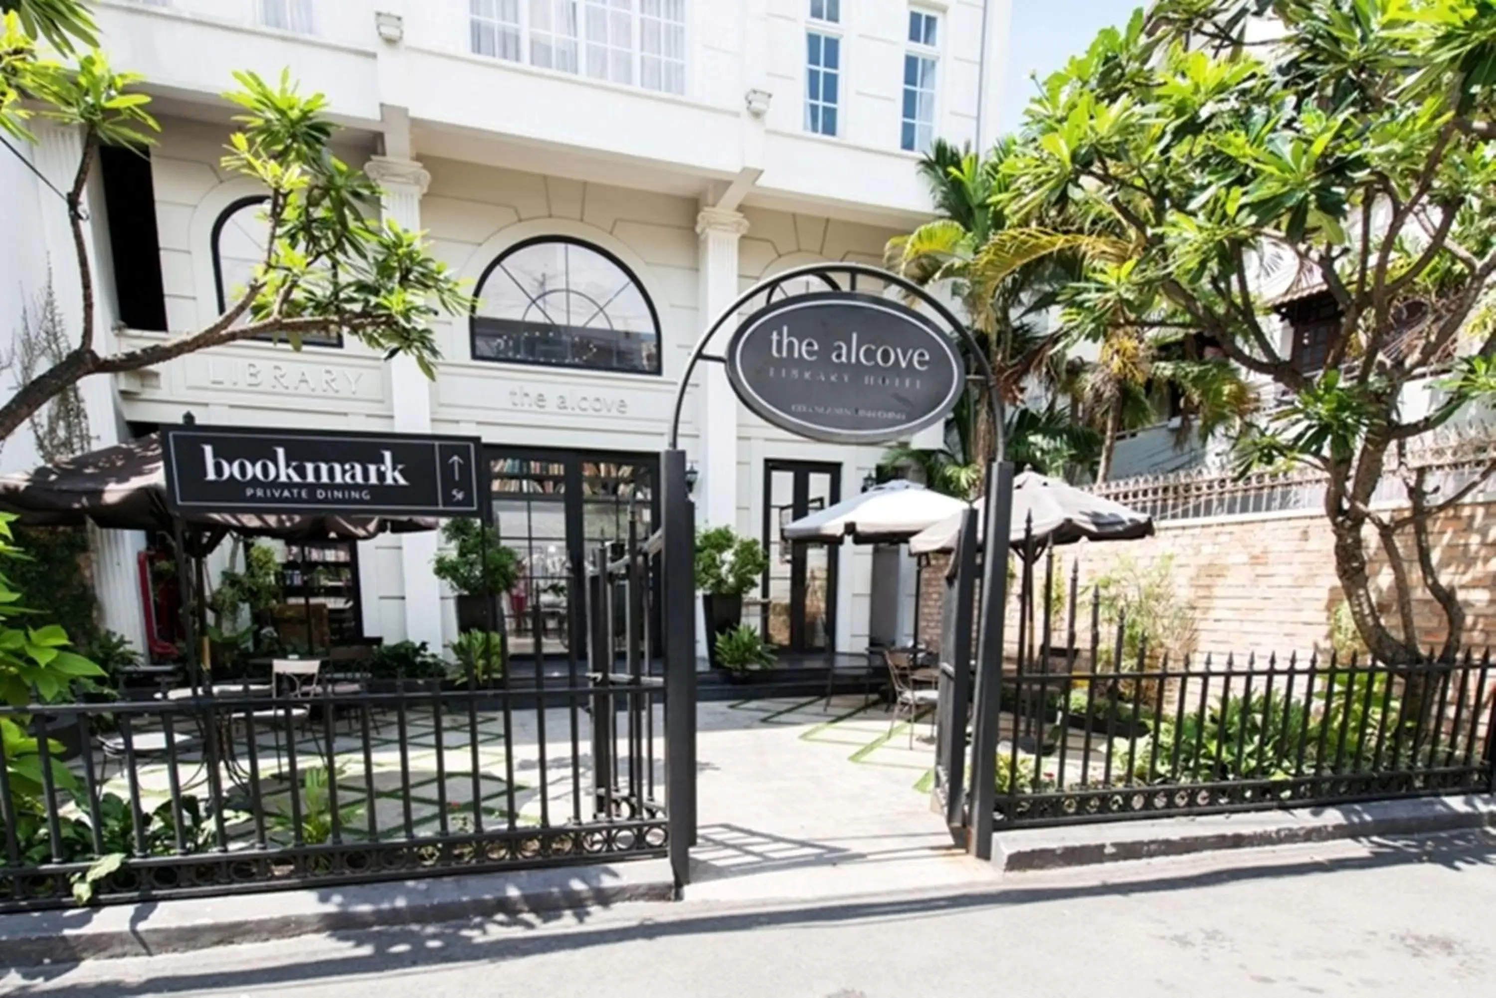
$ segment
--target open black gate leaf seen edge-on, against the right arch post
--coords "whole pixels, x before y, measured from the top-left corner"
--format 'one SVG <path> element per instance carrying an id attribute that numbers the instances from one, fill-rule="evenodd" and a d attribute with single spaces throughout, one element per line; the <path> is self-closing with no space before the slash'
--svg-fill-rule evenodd
<path id="1" fill-rule="evenodd" d="M 945 824 L 966 824 L 966 711 L 971 703 L 971 634 L 977 596 L 977 510 L 966 509 L 956 536 L 951 572 L 956 585 L 947 585 L 951 627 L 941 636 L 939 670 L 939 745 L 936 780 L 944 780 Z M 948 578 L 947 575 L 947 578 Z M 945 585 L 945 581 L 941 581 Z"/>

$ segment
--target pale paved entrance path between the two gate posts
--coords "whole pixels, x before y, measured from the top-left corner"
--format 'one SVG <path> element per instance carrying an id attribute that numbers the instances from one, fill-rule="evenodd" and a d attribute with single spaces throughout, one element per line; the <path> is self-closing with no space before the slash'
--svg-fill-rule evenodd
<path id="1" fill-rule="evenodd" d="M 688 899 L 827 898 L 992 880 L 931 811 L 920 717 L 860 696 L 703 703 Z M 913 741 L 911 741 L 913 735 Z"/>

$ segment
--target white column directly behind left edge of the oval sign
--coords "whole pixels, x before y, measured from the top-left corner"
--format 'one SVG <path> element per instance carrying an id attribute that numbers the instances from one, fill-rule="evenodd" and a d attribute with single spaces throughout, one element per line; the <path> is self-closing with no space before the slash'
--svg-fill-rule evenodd
<path id="1" fill-rule="evenodd" d="M 738 241 L 748 232 L 748 220 L 736 211 L 702 208 L 696 217 L 700 236 L 699 269 L 702 280 L 700 323 L 705 329 L 738 298 Z M 720 353 L 732 335 L 729 322 L 711 344 Z M 697 383 L 702 388 L 702 467 L 697 486 L 699 519 L 711 527 L 738 528 L 738 397 L 727 383 L 721 364 L 703 364 Z"/>

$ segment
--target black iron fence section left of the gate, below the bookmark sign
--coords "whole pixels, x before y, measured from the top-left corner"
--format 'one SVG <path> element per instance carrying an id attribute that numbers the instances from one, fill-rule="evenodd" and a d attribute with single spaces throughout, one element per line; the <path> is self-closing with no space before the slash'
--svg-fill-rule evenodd
<path id="1" fill-rule="evenodd" d="M 663 856 L 663 688 L 595 642 L 525 682 L 0 708 L 0 911 Z"/>

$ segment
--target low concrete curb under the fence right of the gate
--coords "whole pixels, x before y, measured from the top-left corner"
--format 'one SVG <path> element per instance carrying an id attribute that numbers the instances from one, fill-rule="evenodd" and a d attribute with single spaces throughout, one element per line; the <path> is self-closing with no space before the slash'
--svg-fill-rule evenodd
<path id="1" fill-rule="evenodd" d="M 1022 829 L 992 836 L 992 863 L 1032 872 L 1334 839 L 1496 827 L 1492 796 L 1423 798 L 1336 808 Z"/>

